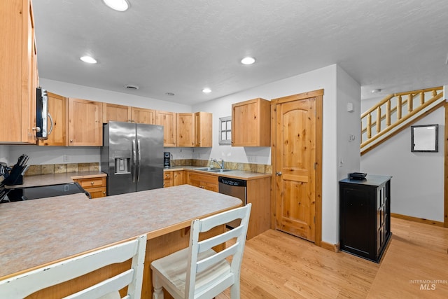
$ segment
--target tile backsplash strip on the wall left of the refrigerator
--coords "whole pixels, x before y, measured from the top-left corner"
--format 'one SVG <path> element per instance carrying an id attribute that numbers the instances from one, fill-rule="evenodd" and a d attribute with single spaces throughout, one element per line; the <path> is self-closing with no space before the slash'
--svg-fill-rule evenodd
<path id="1" fill-rule="evenodd" d="M 69 164 L 44 164 L 30 165 L 25 176 L 38 174 L 62 174 L 65 172 L 97 172 L 99 163 L 69 163 Z"/>

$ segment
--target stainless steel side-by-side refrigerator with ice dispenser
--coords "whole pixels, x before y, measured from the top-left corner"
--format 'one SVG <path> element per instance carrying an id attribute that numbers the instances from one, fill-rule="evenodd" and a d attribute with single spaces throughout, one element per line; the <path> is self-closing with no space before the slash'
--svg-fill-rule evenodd
<path id="1" fill-rule="evenodd" d="M 107 195 L 162 188 L 163 126 L 105 124 L 101 168 L 107 174 Z"/>

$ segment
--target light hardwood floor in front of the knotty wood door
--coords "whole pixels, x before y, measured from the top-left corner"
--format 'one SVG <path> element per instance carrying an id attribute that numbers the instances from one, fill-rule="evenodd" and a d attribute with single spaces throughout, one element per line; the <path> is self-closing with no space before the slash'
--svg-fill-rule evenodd
<path id="1" fill-rule="evenodd" d="M 377 264 L 268 230 L 246 242 L 241 298 L 448 298 L 448 228 L 392 218 L 391 231 Z"/>

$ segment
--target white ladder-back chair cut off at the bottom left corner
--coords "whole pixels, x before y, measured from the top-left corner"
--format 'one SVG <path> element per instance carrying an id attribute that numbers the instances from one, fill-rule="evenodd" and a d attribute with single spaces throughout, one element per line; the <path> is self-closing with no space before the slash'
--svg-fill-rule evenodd
<path id="1" fill-rule="evenodd" d="M 125 298 L 140 298 L 146 251 L 146 235 L 104 249 L 85 253 L 0 281 L 0 298 L 25 298 L 48 286 L 80 277 L 106 265 L 132 258 L 131 268 L 65 298 L 120 298 L 118 291 L 127 286 Z"/>

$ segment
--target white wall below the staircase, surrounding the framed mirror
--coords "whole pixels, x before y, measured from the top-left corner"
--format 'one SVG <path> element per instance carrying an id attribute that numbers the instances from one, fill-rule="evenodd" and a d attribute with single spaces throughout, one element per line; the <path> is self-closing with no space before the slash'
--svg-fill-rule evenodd
<path id="1" fill-rule="evenodd" d="M 391 175 L 391 212 L 444 221 L 444 109 L 414 125 L 439 125 L 438 153 L 412 153 L 408 127 L 361 157 L 361 171 Z"/>

